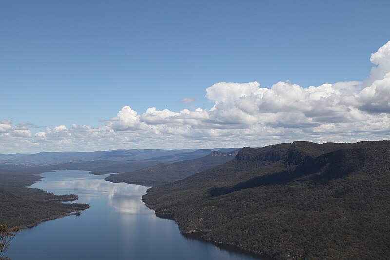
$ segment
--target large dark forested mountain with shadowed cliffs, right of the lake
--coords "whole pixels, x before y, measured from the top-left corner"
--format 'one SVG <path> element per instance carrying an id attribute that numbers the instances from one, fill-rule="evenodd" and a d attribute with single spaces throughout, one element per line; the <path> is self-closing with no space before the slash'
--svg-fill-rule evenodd
<path id="1" fill-rule="evenodd" d="M 243 148 L 143 200 L 183 233 L 276 259 L 389 259 L 390 141 Z"/>

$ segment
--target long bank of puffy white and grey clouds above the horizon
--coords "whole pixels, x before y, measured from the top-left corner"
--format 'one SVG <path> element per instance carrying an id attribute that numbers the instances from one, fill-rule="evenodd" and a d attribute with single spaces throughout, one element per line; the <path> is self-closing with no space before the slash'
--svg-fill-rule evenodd
<path id="1" fill-rule="evenodd" d="M 390 41 L 371 54 L 375 65 L 363 81 L 303 88 L 277 82 L 220 82 L 206 88 L 214 104 L 179 112 L 124 106 L 99 127 L 48 126 L 32 134 L 32 123 L 0 121 L 0 152 L 132 148 L 259 147 L 309 140 L 356 142 L 389 140 Z M 182 103 L 194 102 L 184 98 Z"/>

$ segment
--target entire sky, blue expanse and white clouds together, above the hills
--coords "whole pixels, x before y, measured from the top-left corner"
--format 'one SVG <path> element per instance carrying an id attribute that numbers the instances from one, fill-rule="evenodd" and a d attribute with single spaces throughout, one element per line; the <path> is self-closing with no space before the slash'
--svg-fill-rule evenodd
<path id="1" fill-rule="evenodd" d="M 0 1 L 0 153 L 389 140 L 388 0 Z"/>

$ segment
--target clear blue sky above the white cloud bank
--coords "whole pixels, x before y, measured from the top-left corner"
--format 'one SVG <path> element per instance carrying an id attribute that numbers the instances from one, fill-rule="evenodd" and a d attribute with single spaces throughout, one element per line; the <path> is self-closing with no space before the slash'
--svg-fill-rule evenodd
<path id="1" fill-rule="evenodd" d="M 0 120 L 43 126 L 28 128 L 34 136 L 102 127 L 126 105 L 210 110 L 218 101 L 206 89 L 218 82 L 362 81 L 390 40 L 389 10 L 386 0 L 0 1 Z M 0 153 L 24 147 L 2 143 Z"/>

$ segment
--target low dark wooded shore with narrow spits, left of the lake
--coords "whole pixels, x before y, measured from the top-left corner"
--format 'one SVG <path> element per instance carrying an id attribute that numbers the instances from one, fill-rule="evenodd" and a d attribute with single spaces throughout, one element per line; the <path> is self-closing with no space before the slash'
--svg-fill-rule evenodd
<path id="1" fill-rule="evenodd" d="M 77 199 L 74 194 L 59 196 L 26 188 L 40 179 L 32 173 L 34 171 L 27 169 L 22 174 L 0 170 L 0 223 L 8 227 L 29 227 L 45 220 L 76 214 L 89 207 L 88 204 L 54 202 Z"/>

